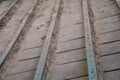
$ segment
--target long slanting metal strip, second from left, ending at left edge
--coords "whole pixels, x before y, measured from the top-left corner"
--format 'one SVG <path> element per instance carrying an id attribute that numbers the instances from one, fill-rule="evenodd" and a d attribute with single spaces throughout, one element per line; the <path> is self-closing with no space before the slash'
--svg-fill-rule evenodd
<path id="1" fill-rule="evenodd" d="M 35 2 L 33 3 L 33 5 L 31 5 L 31 9 L 28 11 L 27 15 L 25 16 L 25 18 L 23 19 L 22 23 L 20 24 L 19 28 L 17 29 L 16 33 L 13 35 L 13 39 L 10 41 L 10 43 L 8 44 L 7 48 L 5 49 L 5 51 L 3 52 L 2 56 L 0 57 L 0 66 L 2 65 L 2 63 L 5 61 L 8 53 L 10 52 L 11 48 L 13 47 L 13 45 L 15 44 L 17 38 L 19 37 L 21 31 L 23 30 L 28 18 L 30 17 L 30 15 L 32 14 L 35 5 L 37 4 L 38 0 L 35 0 Z"/>

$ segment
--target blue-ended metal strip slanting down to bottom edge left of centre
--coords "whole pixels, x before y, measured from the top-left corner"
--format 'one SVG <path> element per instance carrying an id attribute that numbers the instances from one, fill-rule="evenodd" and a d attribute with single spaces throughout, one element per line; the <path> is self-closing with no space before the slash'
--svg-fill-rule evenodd
<path id="1" fill-rule="evenodd" d="M 54 31 L 54 28 L 55 28 L 60 3 L 61 3 L 61 0 L 56 0 L 54 13 L 53 13 L 52 19 L 51 19 L 52 21 L 51 21 L 50 26 L 49 26 L 49 30 L 48 30 L 48 33 L 47 33 L 47 36 L 46 36 L 46 39 L 45 39 L 45 43 L 43 45 L 43 49 L 42 49 L 42 52 L 41 52 L 41 55 L 40 55 L 40 59 L 39 59 L 39 63 L 38 63 L 38 66 L 37 66 L 37 70 L 36 70 L 36 73 L 35 73 L 34 80 L 42 80 L 44 67 L 45 67 L 45 63 L 46 63 L 46 58 L 47 58 L 47 54 L 48 54 L 48 49 L 49 49 L 49 46 L 50 46 L 53 31 Z"/>

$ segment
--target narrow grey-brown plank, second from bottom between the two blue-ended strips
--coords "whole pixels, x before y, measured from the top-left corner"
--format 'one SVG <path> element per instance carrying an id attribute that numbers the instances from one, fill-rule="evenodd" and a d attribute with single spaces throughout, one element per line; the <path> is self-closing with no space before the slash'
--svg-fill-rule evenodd
<path id="1" fill-rule="evenodd" d="M 78 50 L 56 54 L 55 57 L 56 58 L 54 62 L 56 62 L 57 64 L 65 64 L 65 63 L 85 60 L 86 52 L 85 49 L 78 49 Z"/>

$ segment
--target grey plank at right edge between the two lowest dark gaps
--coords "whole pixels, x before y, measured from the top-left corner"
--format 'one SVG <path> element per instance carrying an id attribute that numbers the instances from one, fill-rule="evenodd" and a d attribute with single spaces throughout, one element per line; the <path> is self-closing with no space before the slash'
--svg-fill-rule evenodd
<path id="1" fill-rule="evenodd" d="M 103 71 L 120 69 L 120 53 L 100 57 L 100 64 Z"/>

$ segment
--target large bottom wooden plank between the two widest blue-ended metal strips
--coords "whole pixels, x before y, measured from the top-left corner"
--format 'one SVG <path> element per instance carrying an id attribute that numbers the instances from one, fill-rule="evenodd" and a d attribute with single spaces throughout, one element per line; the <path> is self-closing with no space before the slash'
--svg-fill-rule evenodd
<path id="1" fill-rule="evenodd" d="M 71 80 L 88 74 L 87 61 L 85 60 L 64 65 L 54 65 L 51 70 L 49 72 L 50 76 L 48 75 L 46 80 Z"/>

